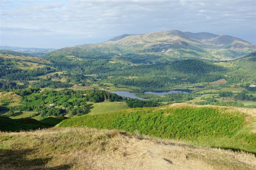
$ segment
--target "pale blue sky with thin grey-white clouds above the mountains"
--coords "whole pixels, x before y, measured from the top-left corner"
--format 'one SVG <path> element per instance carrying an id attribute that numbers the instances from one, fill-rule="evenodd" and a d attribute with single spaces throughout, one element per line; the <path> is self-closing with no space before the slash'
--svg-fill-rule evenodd
<path id="1" fill-rule="evenodd" d="M 63 48 L 121 34 L 180 30 L 256 44 L 256 1 L 5 1 L 0 45 Z"/>

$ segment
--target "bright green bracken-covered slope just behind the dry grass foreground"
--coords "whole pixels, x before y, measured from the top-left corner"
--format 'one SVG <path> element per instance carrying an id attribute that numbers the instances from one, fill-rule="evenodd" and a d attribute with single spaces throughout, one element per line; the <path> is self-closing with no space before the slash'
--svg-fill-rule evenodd
<path id="1" fill-rule="evenodd" d="M 64 120 L 59 127 L 122 129 L 256 154 L 255 109 L 174 104 Z M 254 129 L 254 130 L 253 130 Z"/>

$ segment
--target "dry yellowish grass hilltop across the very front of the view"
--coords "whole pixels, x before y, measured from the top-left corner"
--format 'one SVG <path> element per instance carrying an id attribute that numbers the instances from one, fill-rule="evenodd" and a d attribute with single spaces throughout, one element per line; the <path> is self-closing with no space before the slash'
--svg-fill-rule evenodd
<path id="1" fill-rule="evenodd" d="M 255 169 L 253 154 L 118 130 L 0 132 L 3 169 Z"/>

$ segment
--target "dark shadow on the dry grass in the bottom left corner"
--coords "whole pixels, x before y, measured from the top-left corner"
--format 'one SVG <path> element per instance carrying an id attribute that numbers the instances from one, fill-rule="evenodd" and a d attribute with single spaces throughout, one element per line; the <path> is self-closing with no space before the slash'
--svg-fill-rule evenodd
<path id="1" fill-rule="evenodd" d="M 30 158 L 34 153 L 36 153 L 34 149 L 0 150 L 0 169 L 70 169 L 72 167 L 69 164 L 47 167 L 52 157 Z"/>

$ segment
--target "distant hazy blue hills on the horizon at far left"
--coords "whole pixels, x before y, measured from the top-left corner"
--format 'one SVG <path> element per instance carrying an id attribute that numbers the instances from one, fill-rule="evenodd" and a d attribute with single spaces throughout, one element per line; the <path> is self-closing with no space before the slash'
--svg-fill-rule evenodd
<path id="1" fill-rule="evenodd" d="M 24 48 L 24 47 L 10 47 L 10 46 L 0 46 L 0 50 L 11 50 L 20 53 L 50 53 L 52 51 L 56 51 L 54 48 Z"/>

